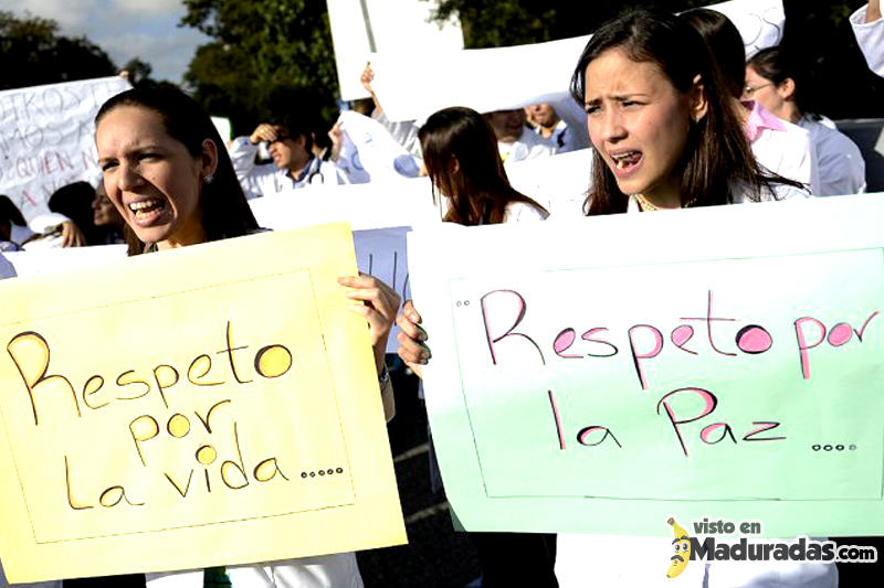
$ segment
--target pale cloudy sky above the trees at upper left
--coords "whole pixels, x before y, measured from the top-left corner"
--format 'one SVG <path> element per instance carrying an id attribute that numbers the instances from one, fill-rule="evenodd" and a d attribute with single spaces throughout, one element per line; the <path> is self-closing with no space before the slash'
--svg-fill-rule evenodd
<path id="1" fill-rule="evenodd" d="M 117 66 L 140 57 L 154 66 L 152 77 L 179 83 L 198 45 L 209 38 L 178 26 L 181 0 L 3 0 L 3 10 L 53 19 L 61 33 L 86 35 Z"/>

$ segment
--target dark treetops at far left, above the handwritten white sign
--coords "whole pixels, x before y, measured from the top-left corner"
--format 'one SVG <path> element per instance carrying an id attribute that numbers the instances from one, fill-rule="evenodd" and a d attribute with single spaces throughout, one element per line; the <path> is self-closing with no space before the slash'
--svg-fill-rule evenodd
<path id="1" fill-rule="evenodd" d="M 86 38 L 59 35 L 55 21 L 0 11 L 0 89 L 115 75 L 116 66 Z"/>

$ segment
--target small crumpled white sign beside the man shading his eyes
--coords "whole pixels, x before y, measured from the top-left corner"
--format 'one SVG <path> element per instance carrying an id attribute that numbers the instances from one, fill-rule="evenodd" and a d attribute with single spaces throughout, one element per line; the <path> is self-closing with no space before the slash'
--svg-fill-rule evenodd
<path id="1" fill-rule="evenodd" d="M 351 110 L 340 114 L 343 133 L 337 165 L 352 183 L 417 178 L 421 160 L 406 151 L 377 120 Z"/>

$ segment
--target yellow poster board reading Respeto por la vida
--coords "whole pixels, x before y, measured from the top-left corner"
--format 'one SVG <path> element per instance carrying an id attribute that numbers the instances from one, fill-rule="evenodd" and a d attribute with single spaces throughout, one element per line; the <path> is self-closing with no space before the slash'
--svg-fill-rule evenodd
<path id="1" fill-rule="evenodd" d="M 346 224 L 0 282 L 11 581 L 406 542 Z"/>

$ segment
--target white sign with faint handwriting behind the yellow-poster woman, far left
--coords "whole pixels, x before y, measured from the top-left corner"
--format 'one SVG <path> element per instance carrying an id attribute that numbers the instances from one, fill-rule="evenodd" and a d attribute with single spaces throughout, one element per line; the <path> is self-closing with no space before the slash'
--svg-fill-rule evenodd
<path id="1" fill-rule="evenodd" d="M 30 220 L 59 188 L 96 178 L 93 120 L 128 88 L 122 77 L 102 77 L 0 92 L 0 193 Z"/>

